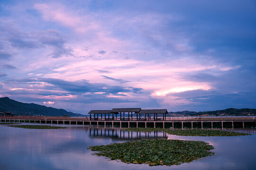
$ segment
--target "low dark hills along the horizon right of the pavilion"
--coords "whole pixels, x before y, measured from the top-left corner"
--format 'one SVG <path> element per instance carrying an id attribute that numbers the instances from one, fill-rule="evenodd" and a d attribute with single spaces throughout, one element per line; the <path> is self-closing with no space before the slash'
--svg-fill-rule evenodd
<path id="1" fill-rule="evenodd" d="M 225 110 L 215 110 L 215 111 L 177 111 L 168 112 L 166 116 L 248 116 L 256 115 L 256 109 L 234 109 L 229 108 Z"/>

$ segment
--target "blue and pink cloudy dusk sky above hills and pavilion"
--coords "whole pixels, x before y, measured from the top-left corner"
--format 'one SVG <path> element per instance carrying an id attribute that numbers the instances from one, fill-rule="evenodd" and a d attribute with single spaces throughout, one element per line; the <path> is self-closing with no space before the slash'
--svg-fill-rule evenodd
<path id="1" fill-rule="evenodd" d="M 256 108 L 256 1 L 1 0 L 6 96 L 81 114 Z"/>

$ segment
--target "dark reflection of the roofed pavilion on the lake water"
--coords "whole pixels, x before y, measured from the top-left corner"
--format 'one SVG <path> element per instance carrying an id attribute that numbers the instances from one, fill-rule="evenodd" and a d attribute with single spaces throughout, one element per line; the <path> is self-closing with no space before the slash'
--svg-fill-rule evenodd
<path id="1" fill-rule="evenodd" d="M 130 132 L 122 131 L 118 128 L 90 128 L 90 136 L 110 137 L 125 140 L 143 140 L 143 139 L 167 139 L 165 132 Z"/>

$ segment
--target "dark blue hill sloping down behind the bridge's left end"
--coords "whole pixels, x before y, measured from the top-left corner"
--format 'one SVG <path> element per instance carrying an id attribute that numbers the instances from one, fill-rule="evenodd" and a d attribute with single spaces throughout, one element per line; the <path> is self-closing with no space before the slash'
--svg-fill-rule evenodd
<path id="1" fill-rule="evenodd" d="M 55 109 L 35 103 L 23 103 L 9 99 L 8 97 L 0 98 L 0 111 L 10 111 L 15 115 L 38 115 L 38 116 L 85 116 L 78 113 L 66 111 L 64 109 Z"/>

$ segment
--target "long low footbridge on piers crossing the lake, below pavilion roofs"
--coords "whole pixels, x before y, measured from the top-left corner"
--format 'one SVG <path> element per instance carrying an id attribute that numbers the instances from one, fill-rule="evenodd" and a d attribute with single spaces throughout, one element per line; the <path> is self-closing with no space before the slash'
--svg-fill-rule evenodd
<path id="1" fill-rule="evenodd" d="M 163 127 L 163 128 L 201 128 L 201 129 L 245 129 L 255 128 L 256 119 L 247 117 L 158 117 L 157 119 L 137 119 L 134 117 L 49 117 L 49 116 L 12 116 L 0 117 L 0 122 L 27 122 L 45 124 L 76 124 L 104 127 Z"/>

